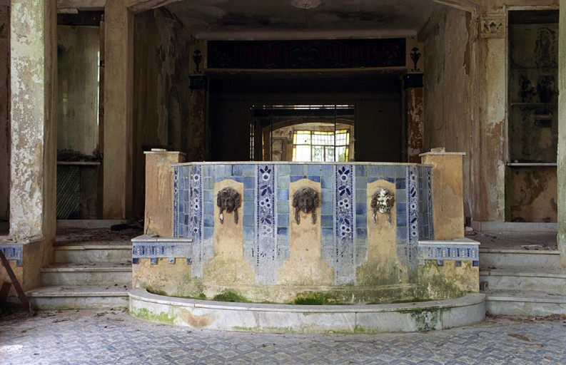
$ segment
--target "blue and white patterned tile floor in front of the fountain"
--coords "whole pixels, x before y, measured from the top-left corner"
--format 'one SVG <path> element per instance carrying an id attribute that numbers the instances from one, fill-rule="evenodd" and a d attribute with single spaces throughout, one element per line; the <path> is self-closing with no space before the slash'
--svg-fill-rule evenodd
<path id="1" fill-rule="evenodd" d="M 0 364 L 566 364 L 565 326 L 489 318 L 428 333 L 296 335 L 191 331 L 126 312 L 18 313 L 0 320 Z"/>

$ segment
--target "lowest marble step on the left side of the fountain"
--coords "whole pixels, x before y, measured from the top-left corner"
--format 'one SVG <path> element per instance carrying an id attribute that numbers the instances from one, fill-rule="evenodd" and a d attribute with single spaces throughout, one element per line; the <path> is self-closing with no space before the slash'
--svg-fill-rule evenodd
<path id="1" fill-rule="evenodd" d="M 128 289 L 129 285 L 58 285 L 30 290 L 26 296 L 35 309 L 120 309 L 128 307 Z"/>

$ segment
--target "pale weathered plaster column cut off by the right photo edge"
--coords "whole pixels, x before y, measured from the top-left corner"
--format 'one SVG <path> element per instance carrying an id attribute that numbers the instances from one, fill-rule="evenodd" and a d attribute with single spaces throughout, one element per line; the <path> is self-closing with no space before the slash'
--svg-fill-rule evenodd
<path id="1" fill-rule="evenodd" d="M 558 40 L 558 250 L 566 267 L 566 0 L 560 0 Z"/>

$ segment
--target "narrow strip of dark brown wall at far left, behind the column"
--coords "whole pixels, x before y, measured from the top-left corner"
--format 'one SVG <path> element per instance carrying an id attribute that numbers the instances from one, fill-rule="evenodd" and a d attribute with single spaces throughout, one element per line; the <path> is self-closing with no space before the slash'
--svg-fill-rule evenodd
<path id="1" fill-rule="evenodd" d="M 10 0 L 0 1 L 0 220 L 10 217 Z"/>

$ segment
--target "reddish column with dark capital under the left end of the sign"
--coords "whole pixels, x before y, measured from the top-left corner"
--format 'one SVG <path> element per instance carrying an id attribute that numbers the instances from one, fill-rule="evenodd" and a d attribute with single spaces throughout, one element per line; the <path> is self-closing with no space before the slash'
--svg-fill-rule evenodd
<path id="1" fill-rule="evenodd" d="M 188 154 L 187 161 L 208 160 L 206 152 L 206 105 L 208 77 L 189 76 L 191 92 L 188 95 Z"/>

